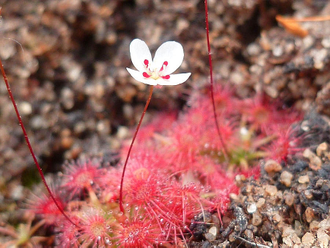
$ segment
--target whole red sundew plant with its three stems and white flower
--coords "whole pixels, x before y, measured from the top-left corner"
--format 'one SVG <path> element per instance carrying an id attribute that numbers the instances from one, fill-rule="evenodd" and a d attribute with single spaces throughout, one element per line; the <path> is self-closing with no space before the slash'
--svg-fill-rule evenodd
<path id="1" fill-rule="evenodd" d="M 207 17 L 207 1 L 205 7 Z M 206 30 L 209 43 L 208 20 Z M 225 228 L 230 195 L 239 192 L 235 178 L 258 177 L 260 159 L 280 162 L 296 152 L 293 124 L 301 115 L 263 92 L 242 99 L 238 88 L 213 82 L 210 45 L 207 90 L 195 90 L 179 115 L 159 113 L 141 124 L 153 91 L 194 80 L 189 72 L 175 73 L 185 45 L 173 40 L 159 44 L 152 57 L 148 40 L 132 39 L 136 70 L 127 73 L 148 85 L 149 97 L 116 165 L 95 158 L 69 161 L 49 186 L 19 118 L 48 192 L 29 198 L 29 223 L 0 228 L 10 237 L 5 247 L 189 247 L 196 224 Z M 42 228 L 47 237 L 38 236 Z"/>

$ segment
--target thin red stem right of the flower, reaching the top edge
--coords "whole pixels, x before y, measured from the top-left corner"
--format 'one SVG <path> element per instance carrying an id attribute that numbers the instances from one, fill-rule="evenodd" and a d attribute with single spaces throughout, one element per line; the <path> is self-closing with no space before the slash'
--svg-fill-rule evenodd
<path id="1" fill-rule="evenodd" d="M 213 114 L 214 114 L 214 121 L 215 121 L 215 126 L 217 128 L 218 136 L 220 139 L 220 143 L 223 148 L 223 153 L 227 161 L 229 161 L 229 153 L 227 150 L 227 146 L 225 142 L 223 141 L 221 131 L 220 131 L 220 126 L 218 123 L 218 116 L 215 108 L 215 101 L 214 101 L 214 93 L 213 93 L 213 67 L 212 67 L 212 56 L 211 56 L 211 45 L 210 45 L 210 27 L 209 27 L 209 13 L 208 13 L 208 7 L 207 7 L 207 0 L 204 0 L 204 5 L 205 5 L 205 23 L 206 23 L 206 40 L 207 40 L 207 51 L 209 55 L 209 67 L 210 67 L 210 81 L 211 81 L 211 98 L 212 98 L 212 106 L 213 106 Z"/>

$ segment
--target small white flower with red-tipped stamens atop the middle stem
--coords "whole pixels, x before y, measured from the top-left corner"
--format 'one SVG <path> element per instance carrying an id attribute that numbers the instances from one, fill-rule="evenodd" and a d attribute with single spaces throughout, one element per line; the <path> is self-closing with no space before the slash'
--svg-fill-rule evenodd
<path id="1" fill-rule="evenodd" d="M 126 68 L 131 76 L 149 85 L 178 85 L 184 83 L 191 73 L 171 74 L 183 61 L 183 47 L 175 41 L 163 43 L 151 59 L 147 44 L 134 39 L 130 44 L 131 60 L 137 70 Z"/>

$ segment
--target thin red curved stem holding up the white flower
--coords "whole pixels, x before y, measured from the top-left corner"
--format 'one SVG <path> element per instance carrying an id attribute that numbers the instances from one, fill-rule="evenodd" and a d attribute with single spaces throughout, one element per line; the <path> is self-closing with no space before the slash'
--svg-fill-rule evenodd
<path id="1" fill-rule="evenodd" d="M 119 207 L 120 207 L 120 211 L 122 213 L 125 212 L 124 210 L 124 206 L 123 206 L 123 185 L 124 185 L 124 177 L 125 177 L 125 171 L 126 171 L 126 166 L 127 166 L 127 162 L 128 162 L 128 159 L 129 159 L 129 156 L 131 155 L 131 151 L 132 151 L 132 148 L 133 148 L 133 144 L 134 144 L 134 141 L 136 139 L 136 136 L 137 136 L 137 133 L 140 129 L 140 126 L 141 126 L 141 123 L 142 123 L 142 120 L 143 120 L 143 117 L 145 115 L 145 113 L 147 112 L 147 109 L 148 109 L 148 106 L 149 106 L 149 103 L 150 103 L 150 100 L 151 100 L 151 96 L 152 96 L 152 92 L 154 90 L 154 86 L 151 85 L 150 86 L 150 91 L 149 91 L 149 96 L 148 96 L 148 100 L 146 102 L 146 105 L 144 106 L 144 110 L 143 110 L 143 113 L 141 115 L 141 118 L 140 118 L 140 121 L 136 127 L 136 130 L 135 130 L 135 133 L 134 133 L 134 136 L 133 136 L 133 139 L 132 139 L 132 142 L 131 142 L 131 145 L 129 146 L 129 149 L 128 149 L 128 153 L 127 153 L 127 156 L 126 156 L 126 160 L 125 160 L 125 163 L 124 163 L 124 168 L 123 168 L 123 172 L 121 174 L 121 182 L 120 182 L 120 193 L 119 193 Z"/>

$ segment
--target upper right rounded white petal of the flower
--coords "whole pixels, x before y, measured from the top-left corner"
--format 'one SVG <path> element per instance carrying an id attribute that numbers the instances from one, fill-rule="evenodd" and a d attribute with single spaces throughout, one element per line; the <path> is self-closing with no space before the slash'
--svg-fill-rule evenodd
<path id="1" fill-rule="evenodd" d="M 153 67 L 159 70 L 163 66 L 163 63 L 167 61 L 168 65 L 163 75 L 169 75 L 182 64 L 183 56 L 183 47 L 180 43 L 167 41 L 157 49 L 153 60 Z"/>

